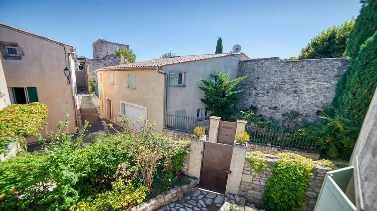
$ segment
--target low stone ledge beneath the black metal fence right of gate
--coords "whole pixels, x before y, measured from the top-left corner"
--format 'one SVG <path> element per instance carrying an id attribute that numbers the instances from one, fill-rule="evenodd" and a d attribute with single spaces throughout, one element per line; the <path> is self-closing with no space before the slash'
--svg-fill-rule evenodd
<path id="1" fill-rule="evenodd" d="M 261 151 L 263 154 L 270 154 L 270 155 L 276 155 L 280 152 L 293 152 L 296 154 L 299 154 L 303 157 L 310 158 L 312 160 L 318 160 L 319 154 L 314 152 L 308 152 L 306 150 L 300 150 L 300 149 L 293 149 L 293 148 L 285 148 L 285 147 L 279 147 L 279 146 L 267 146 L 265 144 L 257 144 L 257 143 L 248 143 L 247 151 Z"/>

